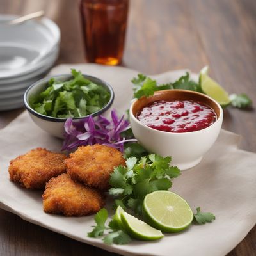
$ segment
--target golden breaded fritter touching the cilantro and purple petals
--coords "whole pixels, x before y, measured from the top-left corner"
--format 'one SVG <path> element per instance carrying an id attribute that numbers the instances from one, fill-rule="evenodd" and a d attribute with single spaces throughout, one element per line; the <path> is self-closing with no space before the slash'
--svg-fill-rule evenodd
<path id="1" fill-rule="evenodd" d="M 116 148 L 95 144 L 79 147 L 65 163 L 72 179 L 91 188 L 107 191 L 110 173 L 114 167 L 124 165 L 125 160 Z"/>

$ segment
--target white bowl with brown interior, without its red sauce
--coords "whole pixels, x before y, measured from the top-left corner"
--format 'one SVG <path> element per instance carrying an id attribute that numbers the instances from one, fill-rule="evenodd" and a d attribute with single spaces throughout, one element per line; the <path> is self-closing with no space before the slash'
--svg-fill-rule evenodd
<path id="1" fill-rule="evenodd" d="M 143 125 L 136 113 L 150 102 L 156 100 L 195 100 L 211 106 L 217 119 L 209 127 L 193 132 L 164 132 Z M 212 147 L 220 133 L 223 110 L 215 100 L 207 95 L 188 90 L 163 90 L 155 92 L 151 97 L 135 100 L 130 108 L 130 122 L 135 138 L 149 152 L 161 156 L 172 156 L 172 164 L 180 170 L 192 168 L 200 163 L 204 154 Z"/>

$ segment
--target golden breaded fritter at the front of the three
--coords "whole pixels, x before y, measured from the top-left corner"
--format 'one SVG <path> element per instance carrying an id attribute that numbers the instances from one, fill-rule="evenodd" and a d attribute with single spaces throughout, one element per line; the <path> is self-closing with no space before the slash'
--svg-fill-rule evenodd
<path id="1" fill-rule="evenodd" d="M 65 216 L 85 216 L 104 206 L 104 194 L 76 182 L 67 173 L 54 177 L 45 186 L 44 212 Z"/>

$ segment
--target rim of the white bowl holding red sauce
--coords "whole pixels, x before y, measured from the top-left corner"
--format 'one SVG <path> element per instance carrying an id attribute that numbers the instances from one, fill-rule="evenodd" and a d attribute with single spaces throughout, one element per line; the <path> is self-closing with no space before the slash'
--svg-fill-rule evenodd
<path id="1" fill-rule="evenodd" d="M 132 119 L 134 120 L 134 122 L 136 122 L 136 124 L 143 126 L 145 129 L 148 129 L 148 131 L 156 131 L 156 132 L 160 132 L 160 133 L 164 133 L 164 134 L 172 134 L 172 136 L 184 136 L 185 134 L 195 134 L 195 133 L 198 133 L 198 132 L 206 131 L 206 130 L 208 130 L 208 129 L 212 129 L 212 127 L 216 126 L 219 122 L 222 122 L 222 120 L 223 120 L 223 109 L 221 108 L 220 104 L 219 104 L 216 100 L 212 99 L 212 98 L 209 97 L 208 95 L 205 95 L 204 93 L 200 93 L 200 92 L 194 92 L 194 91 L 182 90 L 182 89 L 159 90 L 159 91 L 154 92 L 154 94 L 157 93 L 157 92 L 165 92 L 165 91 L 175 91 L 175 92 L 179 91 L 179 92 L 186 92 L 186 93 L 191 93 L 191 94 L 194 94 L 194 93 L 195 93 L 195 94 L 201 95 L 201 96 L 203 96 L 203 97 L 206 97 L 206 98 L 208 98 L 209 100 L 211 100 L 212 102 L 214 102 L 214 104 L 216 104 L 216 106 L 218 106 L 218 108 L 220 109 L 220 115 L 217 116 L 217 119 L 216 119 L 216 121 L 215 121 L 213 124 L 209 125 L 208 127 L 205 127 L 204 129 L 200 129 L 200 130 L 197 130 L 197 131 L 192 131 L 192 132 L 166 132 L 166 131 L 160 131 L 160 130 L 157 130 L 157 129 L 148 127 L 148 126 L 145 125 L 145 124 L 142 124 L 142 123 L 140 122 L 140 120 L 138 120 L 138 119 L 136 118 L 136 116 L 133 115 L 133 111 L 132 111 L 133 106 L 134 106 L 134 104 L 135 104 L 138 100 L 140 100 L 140 99 L 135 99 L 135 100 L 132 102 L 132 104 L 131 104 L 131 106 L 130 106 L 130 109 L 129 109 L 129 116 L 130 116 L 130 119 L 132 118 Z M 151 95 L 151 96 L 153 96 L 153 95 Z M 151 97 L 151 96 L 149 96 L 149 97 Z M 215 111 L 214 111 L 214 113 L 215 113 Z M 131 126 L 132 126 L 132 125 L 131 125 Z"/>

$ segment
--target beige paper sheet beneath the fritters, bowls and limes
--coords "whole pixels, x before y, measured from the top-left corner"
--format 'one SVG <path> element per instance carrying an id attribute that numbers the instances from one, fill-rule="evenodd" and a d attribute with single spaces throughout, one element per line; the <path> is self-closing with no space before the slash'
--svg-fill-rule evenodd
<path id="1" fill-rule="evenodd" d="M 132 99 L 130 80 L 138 72 L 122 67 L 99 65 L 60 65 L 52 74 L 68 73 L 77 68 L 85 74 L 108 81 L 115 90 L 113 107 L 120 113 Z M 152 76 L 158 81 L 173 81 L 184 70 Z M 196 75 L 193 75 L 196 78 Z M 193 211 L 214 212 L 216 220 L 203 226 L 192 225 L 180 234 L 166 234 L 161 241 L 108 246 L 100 239 L 86 236 L 92 230 L 93 216 L 67 218 L 42 211 L 42 192 L 28 191 L 10 182 L 9 161 L 31 148 L 60 150 L 61 140 L 37 127 L 22 113 L 0 131 L 0 207 L 36 225 L 49 228 L 78 241 L 122 255 L 225 255 L 236 246 L 256 222 L 256 154 L 237 148 L 240 138 L 221 130 L 214 147 L 202 162 L 173 180 L 172 191 L 184 197 Z M 109 199 L 108 209 L 111 209 Z"/>

